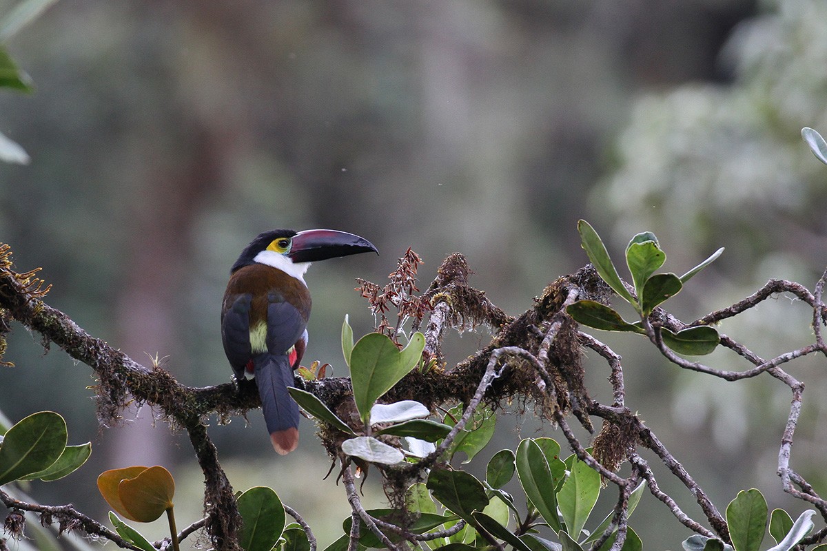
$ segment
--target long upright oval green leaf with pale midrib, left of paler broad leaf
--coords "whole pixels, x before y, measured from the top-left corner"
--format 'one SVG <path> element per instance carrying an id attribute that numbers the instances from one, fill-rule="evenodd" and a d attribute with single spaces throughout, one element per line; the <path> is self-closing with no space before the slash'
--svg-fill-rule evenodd
<path id="1" fill-rule="evenodd" d="M 543 450 L 533 439 L 524 439 L 517 447 L 517 475 L 523 492 L 555 532 L 560 531 L 554 480 Z"/>

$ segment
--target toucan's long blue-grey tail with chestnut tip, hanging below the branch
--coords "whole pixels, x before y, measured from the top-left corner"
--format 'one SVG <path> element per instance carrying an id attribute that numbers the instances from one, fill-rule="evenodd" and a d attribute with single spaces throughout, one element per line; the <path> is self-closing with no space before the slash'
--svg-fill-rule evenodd
<path id="1" fill-rule="evenodd" d="M 270 442 L 279 454 L 289 454 L 299 445 L 299 406 L 287 392 L 293 385 L 289 359 L 286 355 L 259 354 L 253 365 Z"/>

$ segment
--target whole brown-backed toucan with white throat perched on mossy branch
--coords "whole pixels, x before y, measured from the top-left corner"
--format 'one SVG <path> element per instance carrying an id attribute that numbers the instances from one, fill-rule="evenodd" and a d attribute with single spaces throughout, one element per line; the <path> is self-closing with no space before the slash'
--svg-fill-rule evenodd
<path id="1" fill-rule="evenodd" d="M 270 442 L 279 454 L 299 445 L 299 406 L 287 392 L 308 342 L 311 262 L 379 253 L 370 241 L 337 230 L 270 230 L 232 265 L 221 311 L 224 353 L 243 379 L 254 373 Z"/>

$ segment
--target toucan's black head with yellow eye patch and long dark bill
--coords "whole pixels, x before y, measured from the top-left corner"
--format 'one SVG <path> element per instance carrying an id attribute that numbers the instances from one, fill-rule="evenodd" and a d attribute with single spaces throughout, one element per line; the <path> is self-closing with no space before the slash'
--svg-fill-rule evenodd
<path id="1" fill-rule="evenodd" d="M 338 230 L 270 230 L 258 235 L 241 252 L 230 273 L 256 262 L 262 251 L 284 256 L 295 264 L 316 262 L 350 254 L 379 253 L 376 247 L 359 235 Z"/>

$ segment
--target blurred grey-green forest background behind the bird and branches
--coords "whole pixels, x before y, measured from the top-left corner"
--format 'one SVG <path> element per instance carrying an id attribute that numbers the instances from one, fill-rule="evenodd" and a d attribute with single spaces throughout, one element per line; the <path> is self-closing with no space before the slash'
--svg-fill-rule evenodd
<path id="1" fill-rule="evenodd" d="M 354 278 L 384 284 L 409 246 L 425 260 L 423 286 L 460 251 L 471 283 L 512 315 L 586 264 L 578 218 L 616 256 L 652 230 L 677 273 L 726 247 L 669 303 L 685 321 L 768 278 L 812 287 L 827 262 L 827 170 L 799 135 L 827 130 L 823 0 L 63 0 L 7 48 L 36 91 L 0 96 L 0 131 L 31 155 L 0 165 L 0 241 L 17 268 L 44 267 L 50 305 L 138 361 L 164 358 L 185 384 L 229 380 L 218 331 L 227 271 L 275 227 L 348 230 L 380 249 L 308 273 L 305 359 L 332 363 L 334 376 L 347 375 L 343 317 L 357 334 L 373 327 Z M 783 298 L 721 329 L 775 355 L 810 339 L 809 323 Z M 624 356 L 627 404 L 720 508 L 759 487 L 771 507 L 796 511 L 775 474 L 786 387 L 681 373 L 634 335 L 597 336 Z M 487 340 L 453 339 L 450 361 Z M 19 326 L 7 359 L 17 367 L 0 369 L 0 410 L 59 411 L 71 444 L 93 442 L 78 473 L 33 483 L 41 501 L 103 517 L 98 473 L 163 463 L 179 482 L 179 525 L 197 518 L 201 473 L 181 435 L 152 426 L 146 408 L 99 429 L 88 368 L 44 354 Z M 744 367 L 732 354 L 707 361 Z M 609 397 L 608 370 L 590 365 L 593 396 Z M 823 365 L 791 367 L 807 384 L 793 464 L 820 492 Z M 280 458 L 260 417 L 213 422 L 230 481 L 273 487 L 327 545 L 349 509 L 322 480 L 329 461 L 312 423 Z M 530 414 L 500 423 L 478 469 L 520 435 L 563 439 Z M 378 482 L 366 484 L 369 506 Z M 648 549 L 691 534 L 652 496 L 631 524 Z"/>

